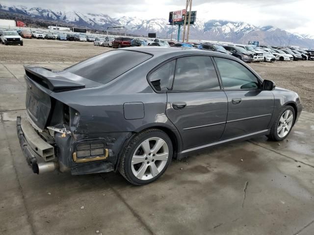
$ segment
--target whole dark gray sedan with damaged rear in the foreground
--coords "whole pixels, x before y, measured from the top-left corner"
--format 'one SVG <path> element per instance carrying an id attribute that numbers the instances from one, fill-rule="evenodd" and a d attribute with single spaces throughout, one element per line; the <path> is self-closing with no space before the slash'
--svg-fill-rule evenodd
<path id="1" fill-rule="evenodd" d="M 206 50 L 130 47 L 63 71 L 25 71 L 28 115 L 17 132 L 37 174 L 118 170 L 144 185 L 173 158 L 260 135 L 282 141 L 302 111 L 295 92 Z"/>

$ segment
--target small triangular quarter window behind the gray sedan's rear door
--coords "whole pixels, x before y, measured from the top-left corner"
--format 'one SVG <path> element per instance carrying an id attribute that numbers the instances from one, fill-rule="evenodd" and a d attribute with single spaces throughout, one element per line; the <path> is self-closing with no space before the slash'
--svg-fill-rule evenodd
<path id="1" fill-rule="evenodd" d="M 176 61 L 173 60 L 163 65 L 149 76 L 150 82 L 157 91 L 163 92 L 171 89 L 175 67 Z"/>

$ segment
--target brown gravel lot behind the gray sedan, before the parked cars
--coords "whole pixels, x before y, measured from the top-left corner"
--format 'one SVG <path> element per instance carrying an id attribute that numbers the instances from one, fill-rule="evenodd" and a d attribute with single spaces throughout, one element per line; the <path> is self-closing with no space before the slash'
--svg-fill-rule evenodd
<path id="1" fill-rule="evenodd" d="M 89 42 L 24 39 L 24 46 L 0 45 L 0 61 L 76 63 L 111 48 L 95 47 Z M 26 58 L 25 58 L 26 57 Z M 287 61 L 249 64 L 262 78 L 300 95 L 304 109 L 314 112 L 314 61 Z"/>

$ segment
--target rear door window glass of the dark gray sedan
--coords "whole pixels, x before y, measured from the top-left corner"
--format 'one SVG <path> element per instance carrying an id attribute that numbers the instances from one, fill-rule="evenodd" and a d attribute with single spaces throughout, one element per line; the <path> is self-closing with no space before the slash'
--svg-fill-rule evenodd
<path id="1" fill-rule="evenodd" d="M 219 90 L 217 73 L 209 56 L 177 59 L 174 91 Z"/>

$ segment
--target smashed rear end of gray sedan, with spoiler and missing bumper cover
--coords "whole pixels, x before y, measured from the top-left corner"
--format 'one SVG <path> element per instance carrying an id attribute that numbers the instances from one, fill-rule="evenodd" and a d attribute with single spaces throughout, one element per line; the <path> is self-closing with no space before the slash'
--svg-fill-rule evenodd
<path id="1" fill-rule="evenodd" d="M 79 111 L 60 95 L 102 84 L 67 71 L 41 67 L 25 67 L 25 71 L 26 114 L 17 118 L 17 133 L 33 172 L 113 170 L 113 164 L 105 161 L 110 155 L 105 138 L 91 137 L 87 125 L 79 125 Z"/>

